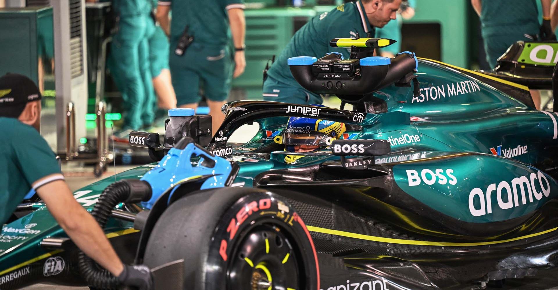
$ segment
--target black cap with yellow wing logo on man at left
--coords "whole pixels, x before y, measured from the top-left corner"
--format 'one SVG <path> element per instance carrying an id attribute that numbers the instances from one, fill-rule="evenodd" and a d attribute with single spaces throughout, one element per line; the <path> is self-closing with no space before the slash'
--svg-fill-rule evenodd
<path id="1" fill-rule="evenodd" d="M 0 117 L 17 118 L 28 102 L 41 100 L 41 92 L 28 77 L 7 73 L 0 77 Z"/>

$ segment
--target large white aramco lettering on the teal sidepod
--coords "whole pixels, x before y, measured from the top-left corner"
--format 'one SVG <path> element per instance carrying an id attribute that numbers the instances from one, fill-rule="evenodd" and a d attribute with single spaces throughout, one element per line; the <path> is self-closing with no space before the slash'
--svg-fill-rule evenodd
<path id="1" fill-rule="evenodd" d="M 541 189 L 539 192 L 537 187 Z M 494 194 L 493 194 L 494 193 Z M 469 193 L 469 212 L 475 217 L 492 213 L 492 200 L 496 195 L 498 207 L 501 209 L 510 209 L 519 207 L 521 204 L 541 200 L 543 196 L 550 195 L 550 183 L 545 174 L 541 171 L 531 173 L 529 177 L 519 176 L 512 179 L 511 184 L 508 181 L 501 181 L 488 185 L 486 190 L 474 188 Z M 475 201 L 477 201 L 475 203 Z M 480 201 L 480 202 L 479 202 Z"/>

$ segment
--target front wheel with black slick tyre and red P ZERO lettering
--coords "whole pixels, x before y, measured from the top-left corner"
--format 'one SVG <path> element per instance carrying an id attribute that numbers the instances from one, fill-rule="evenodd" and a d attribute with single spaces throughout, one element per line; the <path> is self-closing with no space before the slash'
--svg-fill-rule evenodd
<path id="1" fill-rule="evenodd" d="M 184 259 L 184 289 L 318 290 L 310 233 L 285 199 L 221 188 L 177 200 L 157 221 L 144 263 Z"/>

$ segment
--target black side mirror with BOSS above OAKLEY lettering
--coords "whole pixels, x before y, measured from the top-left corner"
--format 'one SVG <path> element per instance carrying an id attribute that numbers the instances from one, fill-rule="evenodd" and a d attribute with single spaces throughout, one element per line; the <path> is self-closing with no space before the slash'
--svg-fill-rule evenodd
<path id="1" fill-rule="evenodd" d="M 335 140 L 331 142 L 333 155 L 341 156 L 344 168 L 364 170 L 374 165 L 374 157 L 386 155 L 391 151 L 387 140 Z M 372 158 L 345 158 L 345 156 L 372 156 Z"/>

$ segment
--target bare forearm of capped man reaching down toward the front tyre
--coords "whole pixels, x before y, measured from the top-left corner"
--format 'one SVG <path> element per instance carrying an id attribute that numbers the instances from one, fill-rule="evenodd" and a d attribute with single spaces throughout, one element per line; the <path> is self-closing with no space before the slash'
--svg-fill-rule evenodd
<path id="1" fill-rule="evenodd" d="M 49 177 L 49 176 L 46 176 Z M 36 181 L 36 183 L 40 180 Z M 56 180 L 37 189 L 47 209 L 83 252 L 114 276 L 122 273 L 123 264 L 103 230 L 91 214 L 74 199 L 68 185 Z"/>

